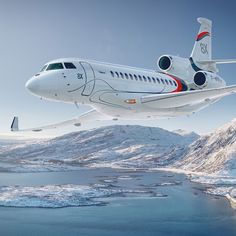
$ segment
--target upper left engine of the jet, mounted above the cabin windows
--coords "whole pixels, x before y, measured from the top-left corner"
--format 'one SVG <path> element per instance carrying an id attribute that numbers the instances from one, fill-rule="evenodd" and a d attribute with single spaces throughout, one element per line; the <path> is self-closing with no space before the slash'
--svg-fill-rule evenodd
<path id="1" fill-rule="evenodd" d="M 189 70 L 190 62 L 187 58 L 163 55 L 158 59 L 157 65 L 163 72 L 186 77 L 188 76 L 186 72 Z"/>

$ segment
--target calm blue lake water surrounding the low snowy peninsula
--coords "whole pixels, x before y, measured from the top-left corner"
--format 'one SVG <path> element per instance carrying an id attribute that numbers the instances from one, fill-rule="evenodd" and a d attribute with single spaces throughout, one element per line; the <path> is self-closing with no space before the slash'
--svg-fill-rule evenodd
<path id="1" fill-rule="evenodd" d="M 236 211 L 184 175 L 111 169 L 0 173 L 0 186 L 90 185 L 107 180 L 124 188 L 155 189 L 167 197 L 112 197 L 104 199 L 105 206 L 59 209 L 0 207 L 0 235 L 236 235 Z M 172 186 L 156 185 L 174 181 L 178 182 Z"/>

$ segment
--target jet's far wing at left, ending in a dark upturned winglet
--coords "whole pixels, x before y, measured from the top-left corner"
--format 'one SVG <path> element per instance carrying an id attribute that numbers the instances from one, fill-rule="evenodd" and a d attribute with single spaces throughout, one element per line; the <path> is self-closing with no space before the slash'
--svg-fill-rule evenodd
<path id="1" fill-rule="evenodd" d="M 13 121 L 12 121 L 12 124 L 11 124 L 11 131 L 13 131 L 13 132 L 19 132 L 19 131 L 40 132 L 40 131 L 43 131 L 43 130 L 57 129 L 57 128 L 65 127 L 65 126 L 68 126 L 68 125 L 74 125 L 74 126 L 78 127 L 78 126 L 81 126 L 82 122 L 88 122 L 88 121 L 91 121 L 91 120 L 93 120 L 93 121 L 106 120 L 106 119 L 112 119 L 112 118 L 99 113 L 95 109 L 91 109 L 87 112 L 84 112 L 80 116 L 78 116 L 76 118 L 73 118 L 73 119 L 70 119 L 70 120 L 58 122 L 58 123 L 55 123 L 55 124 L 35 127 L 35 128 L 19 129 L 19 123 L 18 123 L 19 119 L 18 119 L 18 117 L 15 116 Z"/>

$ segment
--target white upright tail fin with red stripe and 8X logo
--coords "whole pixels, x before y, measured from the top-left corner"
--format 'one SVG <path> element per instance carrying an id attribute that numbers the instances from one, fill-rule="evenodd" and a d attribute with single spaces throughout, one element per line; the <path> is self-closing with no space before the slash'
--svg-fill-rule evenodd
<path id="1" fill-rule="evenodd" d="M 201 24 L 191 53 L 194 61 L 211 60 L 211 26 L 212 22 L 206 18 L 198 18 Z"/>

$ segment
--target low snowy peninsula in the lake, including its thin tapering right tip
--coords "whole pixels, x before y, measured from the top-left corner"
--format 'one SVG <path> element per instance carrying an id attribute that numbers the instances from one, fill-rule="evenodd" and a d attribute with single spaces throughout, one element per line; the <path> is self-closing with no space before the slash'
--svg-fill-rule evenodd
<path id="1" fill-rule="evenodd" d="M 114 197 L 165 197 L 152 190 L 112 188 L 110 185 L 44 185 L 0 187 L 0 206 L 61 208 L 101 206 Z"/>

